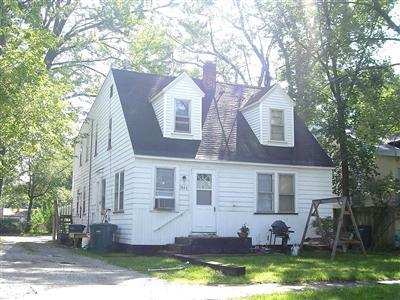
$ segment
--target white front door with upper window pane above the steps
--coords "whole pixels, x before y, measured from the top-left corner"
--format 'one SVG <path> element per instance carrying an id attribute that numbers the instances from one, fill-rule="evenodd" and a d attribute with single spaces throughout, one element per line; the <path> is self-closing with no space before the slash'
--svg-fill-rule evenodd
<path id="1" fill-rule="evenodd" d="M 193 177 L 192 232 L 214 233 L 215 177 L 209 170 L 195 171 Z"/>

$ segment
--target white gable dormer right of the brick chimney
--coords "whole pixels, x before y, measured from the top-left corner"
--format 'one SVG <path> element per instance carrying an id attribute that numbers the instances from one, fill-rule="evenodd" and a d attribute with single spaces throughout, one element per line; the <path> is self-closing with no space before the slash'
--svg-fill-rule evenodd
<path id="1" fill-rule="evenodd" d="M 294 101 L 278 85 L 253 96 L 241 109 L 259 142 L 266 146 L 294 146 Z"/>

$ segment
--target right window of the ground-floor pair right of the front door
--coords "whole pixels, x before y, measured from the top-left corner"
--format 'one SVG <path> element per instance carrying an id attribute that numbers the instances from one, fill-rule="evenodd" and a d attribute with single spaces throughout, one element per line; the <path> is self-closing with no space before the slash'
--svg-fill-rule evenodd
<path id="1" fill-rule="evenodd" d="M 295 183 L 293 174 L 279 174 L 279 212 L 295 212 Z"/>

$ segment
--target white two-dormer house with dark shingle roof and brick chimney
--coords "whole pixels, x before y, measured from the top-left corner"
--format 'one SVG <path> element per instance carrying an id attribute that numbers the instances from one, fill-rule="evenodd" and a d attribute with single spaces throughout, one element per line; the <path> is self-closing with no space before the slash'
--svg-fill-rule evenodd
<path id="1" fill-rule="evenodd" d="M 246 223 L 260 244 L 280 219 L 299 242 L 311 200 L 332 196 L 331 159 L 279 85 L 215 76 L 212 63 L 202 79 L 109 72 L 75 147 L 75 223 L 110 210 L 132 245 L 236 236 Z"/>

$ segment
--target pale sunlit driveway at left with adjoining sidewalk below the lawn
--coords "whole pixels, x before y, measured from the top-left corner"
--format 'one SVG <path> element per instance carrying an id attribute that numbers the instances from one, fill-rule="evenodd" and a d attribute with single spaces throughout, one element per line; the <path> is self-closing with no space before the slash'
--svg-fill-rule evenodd
<path id="1" fill-rule="evenodd" d="M 231 299 L 303 288 L 167 282 L 80 256 L 49 237 L 0 237 L 0 299 Z"/>

